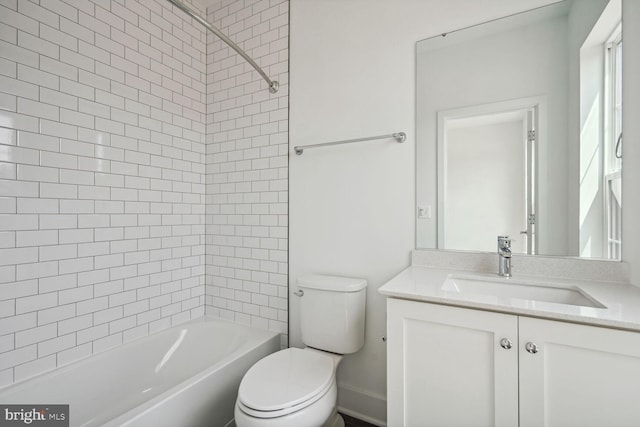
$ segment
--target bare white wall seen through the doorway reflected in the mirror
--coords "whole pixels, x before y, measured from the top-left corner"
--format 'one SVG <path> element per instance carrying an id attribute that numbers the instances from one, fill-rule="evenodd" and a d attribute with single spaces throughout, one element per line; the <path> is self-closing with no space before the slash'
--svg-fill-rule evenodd
<path id="1" fill-rule="evenodd" d="M 522 118 L 447 131 L 444 248 L 493 252 L 506 235 L 527 252 L 525 134 Z"/>

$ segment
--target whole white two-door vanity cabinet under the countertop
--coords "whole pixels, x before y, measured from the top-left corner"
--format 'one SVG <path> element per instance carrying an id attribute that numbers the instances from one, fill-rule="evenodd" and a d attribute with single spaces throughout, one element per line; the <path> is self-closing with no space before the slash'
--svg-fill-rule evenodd
<path id="1" fill-rule="evenodd" d="M 388 425 L 638 426 L 640 333 L 387 300 Z"/>

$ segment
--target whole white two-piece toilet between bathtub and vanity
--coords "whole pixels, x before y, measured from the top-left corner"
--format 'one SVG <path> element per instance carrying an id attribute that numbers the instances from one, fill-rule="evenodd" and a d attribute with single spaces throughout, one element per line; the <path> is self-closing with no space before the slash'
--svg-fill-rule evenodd
<path id="1" fill-rule="evenodd" d="M 337 413 L 336 369 L 364 344 L 367 281 L 309 275 L 297 282 L 306 348 L 287 348 L 253 365 L 242 378 L 238 427 L 344 427 Z"/>

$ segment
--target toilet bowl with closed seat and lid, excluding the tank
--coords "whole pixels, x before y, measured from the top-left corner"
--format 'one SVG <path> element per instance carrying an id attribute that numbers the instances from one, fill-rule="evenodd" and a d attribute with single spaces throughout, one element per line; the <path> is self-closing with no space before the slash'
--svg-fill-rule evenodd
<path id="1" fill-rule="evenodd" d="M 238 390 L 235 420 L 243 427 L 342 427 L 335 411 L 341 356 L 288 348 L 258 361 Z"/>

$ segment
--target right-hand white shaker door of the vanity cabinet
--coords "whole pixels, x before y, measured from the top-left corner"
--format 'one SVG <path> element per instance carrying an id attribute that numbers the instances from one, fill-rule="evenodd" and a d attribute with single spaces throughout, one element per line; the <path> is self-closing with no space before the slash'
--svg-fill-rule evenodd
<path id="1" fill-rule="evenodd" d="M 521 317 L 519 366 L 520 427 L 640 426 L 638 333 Z"/>

